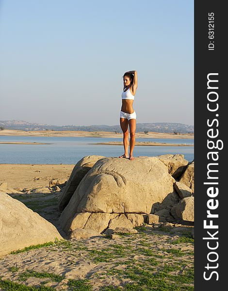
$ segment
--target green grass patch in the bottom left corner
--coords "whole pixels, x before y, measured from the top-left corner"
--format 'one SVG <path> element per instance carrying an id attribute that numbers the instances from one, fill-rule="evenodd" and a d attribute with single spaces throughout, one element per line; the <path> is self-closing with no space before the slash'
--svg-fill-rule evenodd
<path id="1" fill-rule="evenodd" d="M 18 284 L 15 282 L 11 282 L 10 280 L 2 280 L 0 279 L 0 288 L 2 290 L 9 291 L 55 291 L 52 287 L 39 286 L 38 288 L 25 286 L 23 284 Z"/>

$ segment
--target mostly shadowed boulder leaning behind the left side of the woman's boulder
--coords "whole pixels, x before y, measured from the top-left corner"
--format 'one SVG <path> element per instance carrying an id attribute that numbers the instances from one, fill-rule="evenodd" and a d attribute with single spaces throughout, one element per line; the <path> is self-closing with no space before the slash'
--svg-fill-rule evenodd
<path id="1" fill-rule="evenodd" d="M 103 156 L 86 156 L 82 158 L 75 165 L 70 178 L 68 179 L 62 194 L 59 196 L 59 210 L 65 209 L 66 205 L 69 203 L 70 198 L 77 189 L 81 179 L 85 174 L 93 167 L 93 165 L 98 162 L 98 160 L 104 158 Z"/>

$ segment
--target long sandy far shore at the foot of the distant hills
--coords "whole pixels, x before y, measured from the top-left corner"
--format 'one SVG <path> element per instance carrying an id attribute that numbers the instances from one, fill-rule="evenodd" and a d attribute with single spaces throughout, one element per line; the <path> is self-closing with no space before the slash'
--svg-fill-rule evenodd
<path id="1" fill-rule="evenodd" d="M 38 131 L 24 131 L 24 130 L 11 130 L 3 129 L 0 130 L 0 135 L 17 135 L 17 136 L 86 136 L 86 137 L 123 137 L 122 133 L 108 132 L 108 131 L 53 131 L 53 130 L 38 130 Z M 174 134 L 174 133 L 163 133 L 163 132 L 136 132 L 135 137 L 137 138 L 177 138 L 177 139 L 194 139 L 194 134 Z"/>

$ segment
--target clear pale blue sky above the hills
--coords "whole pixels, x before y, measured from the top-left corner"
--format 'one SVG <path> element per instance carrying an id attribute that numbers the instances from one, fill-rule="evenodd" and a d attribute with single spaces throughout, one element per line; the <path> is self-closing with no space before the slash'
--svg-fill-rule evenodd
<path id="1" fill-rule="evenodd" d="M 0 0 L 0 120 L 194 124 L 194 0 Z"/>

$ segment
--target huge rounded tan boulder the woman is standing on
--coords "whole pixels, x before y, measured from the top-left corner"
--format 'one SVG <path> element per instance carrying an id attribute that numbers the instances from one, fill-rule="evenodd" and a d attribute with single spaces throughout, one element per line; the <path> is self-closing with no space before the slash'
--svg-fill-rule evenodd
<path id="1" fill-rule="evenodd" d="M 174 182 L 156 157 L 100 159 L 82 178 L 60 216 L 60 224 L 66 232 L 76 228 L 102 232 L 110 226 L 126 226 L 126 222 L 128 227 L 138 226 L 154 203 L 173 192 Z"/>

